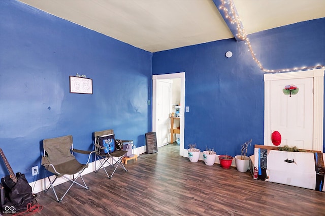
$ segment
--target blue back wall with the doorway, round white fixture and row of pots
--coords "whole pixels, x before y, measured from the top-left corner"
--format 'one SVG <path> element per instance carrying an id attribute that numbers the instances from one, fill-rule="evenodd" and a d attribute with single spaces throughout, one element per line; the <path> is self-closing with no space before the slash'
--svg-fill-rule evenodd
<path id="1" fill-rule="evenodd" d="M 325 65 L 325 18 L 249 35 L 266 69 Z M 225 57 L 232 51 L 233 57 Z M 153 74 L 185 72 L 185 148 L 240 154 L 264 144 L 264 72 L 245 41 L 219 40 L 153 54 Z M 325 146 L 325 145 L 324 145 Z M 253 145 L 248 155 L 253 154 Z"/>

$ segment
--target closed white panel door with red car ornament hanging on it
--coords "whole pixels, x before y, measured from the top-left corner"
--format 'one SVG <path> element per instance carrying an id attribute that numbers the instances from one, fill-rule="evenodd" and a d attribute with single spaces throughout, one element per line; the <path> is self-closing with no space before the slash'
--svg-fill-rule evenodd
<path id="1" fill-rule="evenodd" d="M 298 93 L 283 91 L 294 84 Z M 281 134 L 280 146 L 313 149 L 313 78 L 273 80 L 271 129 Z"/>

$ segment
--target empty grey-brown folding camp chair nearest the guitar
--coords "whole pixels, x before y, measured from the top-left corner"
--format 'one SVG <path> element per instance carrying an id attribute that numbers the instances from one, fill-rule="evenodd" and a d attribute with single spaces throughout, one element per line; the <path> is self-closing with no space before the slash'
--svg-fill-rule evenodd
<path id="1" fill-rule="evenodd" d="M 94 153 L 94 151 L 83 151 L 83 150 L 74 149 L 73 139 L 71 135 L 52 138 L 52 139 L 45 139 L 43 140 L 43 148 L 44 148 L 44 155 L 42 156 L 42 165 L 45 167 L 45 172 L 50 171 L 53 174 L 55 174 L 55 178 L 53 181 L 50 180 L 50 176 L 47 177 L 50 182 L 48 188 L 46 187 L 46 180 L 44 181 L 44 192 L 47 192 L 50 188 L 52 188 L 56 200 L 60 202 L 63 199 L 63 197 L 66 196 L 66 194 L 68 193 L 72 185 L 75 183 L 85 189 L 88 189 L 85 181 L 81 176 L 81 173 L 83 170 L 85 170 L 85 168 L 88 167 L 91 153 Z M 81 164 L 75 158 L 73 152 L 88 154 L 89 156 L 88 156 L 87 163 Z M 75 174 L 77 174 L 77 177 L 74 179 L 70 179 L 67 176 L 64 176 L 64 175 L 75 175 Z M 56 195 L 53 184 L 60 177 L 63 177 L 71 181 L 72 183 L 68 188 L 68 190 L 66 191 L 66 193 L 64 193 L 64 195 L 59 199 Z M 76 182 L 76 180 L 79 177 L 82 180 L 83 185 Z"/>

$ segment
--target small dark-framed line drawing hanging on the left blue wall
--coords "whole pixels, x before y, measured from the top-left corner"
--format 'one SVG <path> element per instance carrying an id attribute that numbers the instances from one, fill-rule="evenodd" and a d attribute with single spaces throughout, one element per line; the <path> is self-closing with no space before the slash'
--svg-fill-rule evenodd
<path id="1" fill-rule="evenodd" d="M 92 94 L 92 79 L 69 76 L 70 93 Z"/>

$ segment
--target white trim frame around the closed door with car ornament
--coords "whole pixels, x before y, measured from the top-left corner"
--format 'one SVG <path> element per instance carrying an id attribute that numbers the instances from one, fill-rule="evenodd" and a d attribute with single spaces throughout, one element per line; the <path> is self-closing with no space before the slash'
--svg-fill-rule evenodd
<path id="1" fill-rule="evenodd" d="M 271 142 L 272 80 L 313 78 L 313 150 L 323 151 L 324 69 L 264 74 L 264 145 Z"/>

